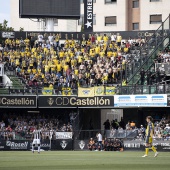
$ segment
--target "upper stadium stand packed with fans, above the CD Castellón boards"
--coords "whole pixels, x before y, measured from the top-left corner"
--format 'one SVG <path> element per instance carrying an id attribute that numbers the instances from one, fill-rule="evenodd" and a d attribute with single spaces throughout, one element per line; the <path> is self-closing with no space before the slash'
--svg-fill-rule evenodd
<path id="1" fill-rule="evenodd" d="M 159 64 L 169 62 L 168 23 L 169 18 L 145 39 L 125 40 L 119 33 L 66 38 L 64 43 L 59 34 L 8 38 L 0 45 L 0 59 L 12 87 L 3 84 L 0 93 L 42 94 L 50 88 L 61 95 L 69 88 L 67 94 L 77 95 L 78 87 L 100 85 L 114 86 L 117 94 L 166 93 L 168 66 L 165 70 Z"/>

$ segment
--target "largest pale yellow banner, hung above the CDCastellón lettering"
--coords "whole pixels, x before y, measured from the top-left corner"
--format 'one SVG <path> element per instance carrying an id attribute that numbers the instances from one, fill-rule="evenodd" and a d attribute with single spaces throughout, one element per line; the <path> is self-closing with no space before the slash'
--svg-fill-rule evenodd
<path id="1" fill-rule="evenodd" d="M 78 88 L 78 97 L 94 97 L 94 87 Z"/>

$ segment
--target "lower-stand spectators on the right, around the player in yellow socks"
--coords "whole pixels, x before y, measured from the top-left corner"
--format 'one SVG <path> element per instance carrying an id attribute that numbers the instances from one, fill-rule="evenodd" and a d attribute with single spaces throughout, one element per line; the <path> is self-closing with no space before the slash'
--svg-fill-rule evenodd
<path id="1" fill-rule="evenodd" d="M 133 137 L 133 139 L 141 140 L 141 141 L 145 139 L 145 131 L 146 131 L 145 126 L 141 125 L 140 127 L 137 127 L 134 121 L 129 121 L 125 125 L 123 119 L 121 118 L 120 122 L 118 122 L 117 119 L 111 122 L 109 120 L 106 120 L 103 125 L 104 125 L 105 135 L 107 134 L 106 133 L 107 130 L 110 130 L 109 133 L 110 136 L 116 137 L 120 135 L 119 136 L 120 138 L 121 136 L 122 138 L 124 138 L 124 133 L 122 132 L 124 132 L 125 130 L 126 135 L 129 135 L 131 132 L 130 138 Z M 170 140 L 170 117 L 163 117 L 160 121 L 155 121 L 154 126 L 155 126 L 154 137 L 153 137 L 154 139 Z"/>

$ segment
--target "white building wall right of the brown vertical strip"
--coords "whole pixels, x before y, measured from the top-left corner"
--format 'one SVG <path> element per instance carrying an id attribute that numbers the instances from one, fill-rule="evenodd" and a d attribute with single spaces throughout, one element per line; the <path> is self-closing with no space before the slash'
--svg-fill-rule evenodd
<path id="1" fill-rule="evenodd" d="M 162 21 L 164 21 L 170 14 L 170 0 L 160 0 L 158 2 L 150 2 L 150 0 L 140 1 L 141 11 L 141 30 L 156 30 L 160 24 L 150 24 L 150 15 L 162 14 Z"/>

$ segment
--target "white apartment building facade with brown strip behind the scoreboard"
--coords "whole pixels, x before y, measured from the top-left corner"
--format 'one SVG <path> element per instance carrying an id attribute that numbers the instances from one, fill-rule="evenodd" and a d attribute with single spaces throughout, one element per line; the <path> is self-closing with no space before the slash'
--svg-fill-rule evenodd
<path id="1" fill-rule="evenodd" d="M 79 20 L 54 19 L 54 30 L 80 32 L 84 23 L 84 3 Z M 169 13 L 170 0 L 93 0 L 93 30 L 132 31 L 155 30 Z M 19 18 L 19 0 L 11 0 L 11 26 L 19 31 L 46 31 L 43 19 Z"/>

